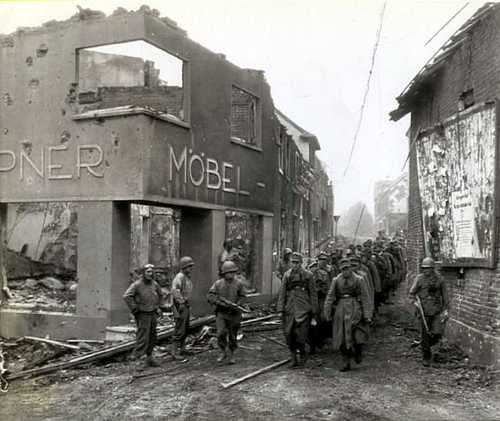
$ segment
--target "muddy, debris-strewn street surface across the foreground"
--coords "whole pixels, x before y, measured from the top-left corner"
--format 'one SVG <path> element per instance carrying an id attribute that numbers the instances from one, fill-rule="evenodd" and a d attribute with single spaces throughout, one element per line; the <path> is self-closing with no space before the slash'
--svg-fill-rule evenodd
<path id="1" fill-rule="evenodd" d="M 141 373 L 118 361 L 16 381 L 1 396 L 0 419 L 500 418 L 494 372 L 471 367 L 451 347 L 437 353 L 433 367 L 422 366 L 420 349 L 412 347 L 418 332 L 402 303 L 382 307 L 364 361 L 350 372 L 340 372 L 340 357 L 325 350 L 304 369 L 280 367 L 223 389 L 222 383 L 287 358 L 285 348 L 263 336 L 283 340 L 280 330 L 246 332 L 233 366 L 217 365 L 211 350 L 187 362 L 164 356 L 160 368 Z"/>

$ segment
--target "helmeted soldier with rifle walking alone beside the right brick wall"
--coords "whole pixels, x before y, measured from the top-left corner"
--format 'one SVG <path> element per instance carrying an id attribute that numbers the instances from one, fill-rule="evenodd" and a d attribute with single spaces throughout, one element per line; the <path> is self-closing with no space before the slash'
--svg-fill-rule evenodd
<path id="1" fill-rule="evenodd" d="M 422 260 L 422 273 L 418 274 L 410 289 L 410 300 L 419 310 L 422 329 L 423 365 L 428 367 L 432 359 L 432 345 L 443 333 L 444 322 L 448 318 L 448 291 L 443 278 L 435 271 L 434 260 Z M 421 305 L 419 305 L 419 303 Z"/>

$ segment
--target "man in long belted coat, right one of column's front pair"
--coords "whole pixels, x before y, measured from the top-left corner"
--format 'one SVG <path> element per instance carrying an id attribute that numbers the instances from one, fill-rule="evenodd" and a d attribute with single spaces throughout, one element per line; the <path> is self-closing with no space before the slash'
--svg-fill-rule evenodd
<path id="1" fill-rule="evenodd" d="M 351 358 L 356 363 L 362 359 L 363 343 L 367 340 L 366 325 L 371 323 L 368 290 L 361 276 L 356 275 L 349 259 L 340 261 L 340 275 L 333 279 L 325 300 L 324 317 L 333 316 L 333 350 L 340 350 L 344 364 L 340 371 L 351 369 Z M 363 324 L 362 321 L 366 323 Z"/>

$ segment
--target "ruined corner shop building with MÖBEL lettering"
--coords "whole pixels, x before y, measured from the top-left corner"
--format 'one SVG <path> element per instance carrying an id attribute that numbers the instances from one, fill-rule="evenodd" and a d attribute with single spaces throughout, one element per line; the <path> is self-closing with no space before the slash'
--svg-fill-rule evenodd
<path id="1" fill-rule="evenodd" d="M 152 261 L 171 276 L 180 255 L 196 262 L 194 313 L 211 311 L 206 293 L 228 237 L 255 299 L 272 294 L 283 148 L 262 71 L 147 7 L 108 17 L 81 9 L 0 37 L 0 92 L 0 288 L 6 243 L 78 280 L 73 312 L 2 306 L 0 336 L 102 336 L 128 321 L 133 269 Z M 303 250 L 327 236 L 333 206 L 324 172 L 316 187 L 309 179 L 319 148 L 309 141 L 307 156 L 291 142 L 300 159 L 283 161 L 300 168 L 300 187 L 288 188 L 321 198 L 314 211 L 294 208 L 309 227 Z"/>

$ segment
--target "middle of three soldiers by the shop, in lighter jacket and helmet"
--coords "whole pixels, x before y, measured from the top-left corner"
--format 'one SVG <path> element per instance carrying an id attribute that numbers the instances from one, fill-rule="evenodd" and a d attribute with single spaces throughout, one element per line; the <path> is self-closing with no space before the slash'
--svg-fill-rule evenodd
<path id="1" fill-rule="evenodd" d="M 174 315 L 174 340 L 172 344 L 172 357 L 174 359 L 180 354 L 187 355 L 186 338 L 189 330 L 190 307 L 189 300 L 193 291 L 191 281 L 191 269 L 194 261 L 189 256 L 181 257 L 179 260 L 179 272 L 172 281 L 172 313 Z"/>

